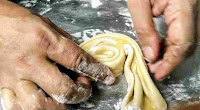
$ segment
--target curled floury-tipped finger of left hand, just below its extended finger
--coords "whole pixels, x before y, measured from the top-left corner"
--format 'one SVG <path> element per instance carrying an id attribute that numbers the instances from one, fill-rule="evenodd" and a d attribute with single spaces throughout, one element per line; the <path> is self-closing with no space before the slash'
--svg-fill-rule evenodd
<path id="1" fill-rule="evenodd" d="M 61 73 L 55 64 L 40 61 L 37 65 L 37 76 L 31 80 L 59 103 L 75 104 L 90 97 L 91 86 L 80 81 L 73 81 Z"/>

